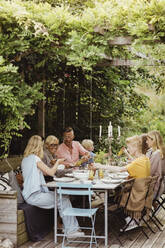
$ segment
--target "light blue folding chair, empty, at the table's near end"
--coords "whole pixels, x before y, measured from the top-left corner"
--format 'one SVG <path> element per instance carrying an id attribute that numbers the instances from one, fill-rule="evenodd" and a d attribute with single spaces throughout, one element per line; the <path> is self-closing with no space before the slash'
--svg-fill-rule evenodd
<path id="1" fill-rule="evenodd" d="M 90 241 L 83 241 L 83 240 L 73 240 L 71 238 L 67 237 L 66 230 L 64 229 L 64 235 L 63 235 L 63 241 L 62 241 L 62 248 L 70 248 L 70 246 L 67 246 L 70 243 L 88 243 L 90 244 L 90 248 L 92 248 L 93 244 L 97 247 L 97 240 L 96 240 L 96 233 L 95 233 L 95 218 L 96 218 L 96 212 L 98 208 L 92 208 L 91 207 L 91 198 L 93 191 L 91 190 L 92 184 L 68 184 L 68 183 L 57 183 L 58 189 L 57 193 L 60 197 L 60 205 L 62 209 L 62 214 L 64 216 L 75 216 L 75 217 L 88 217 L 91 219 L 91 227 L 80 227 L 81 229 L 90 230 L 91 234 L 85 235 L 82 238 L 89 238 Z M 62 206 L 62 196 L 63 195 L 74 195 L 74 196 L 88 196 L 89 201 L 89 208 L 65 208 L 63 209 Z M 65 244 L 66 243 L 66 244 Z M 65 246 L 66 245 L 66 246 Z"/>

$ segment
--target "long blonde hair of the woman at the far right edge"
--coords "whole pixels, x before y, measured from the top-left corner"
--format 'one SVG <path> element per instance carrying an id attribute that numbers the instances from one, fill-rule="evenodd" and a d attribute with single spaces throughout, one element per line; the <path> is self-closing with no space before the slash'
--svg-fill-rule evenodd
<path id="1" fill-rule="evenodd" d="M 147 135 L 150 139 L 153 140 L 152 149 L 154 151 L 160 150 L 161 157 L 162 159 L 164 159 L 165 158 L 165 144 L 163 143 L 163 138 L 160 135 L 160 132 L 157 130 L 153 130 L 153 131 L 148 132 Z"/>

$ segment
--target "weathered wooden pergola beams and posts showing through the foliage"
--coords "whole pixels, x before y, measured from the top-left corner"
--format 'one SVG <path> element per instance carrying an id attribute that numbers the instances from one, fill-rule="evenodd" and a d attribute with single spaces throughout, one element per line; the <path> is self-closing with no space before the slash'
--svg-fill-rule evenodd
<path id="1" fill-rule="evenodd" d="M 94 30 L 96 33 L 100 35 L 104 35 L 105 31 L 100 28 L 96 27 Z M 106 54 L 100 55 L 100 62 L 97 64 L 98 67 L 109 67 L 109 66 L 125 66 L 125 67 L 131 67 L 131 66 L 165 66 L 165 60 L 158 61 L 158 60 L 151 60 L 150 57 L 146 56 L 142 52 L 133 52 L 131 49 L 131 45 L 133 44 L 134 39 L 131 36 L 118 36 L 114 39 L 111 39 L 108 41 L 109 46 L 128 46 L 130 53 L 133 53 L 136 57 L 136 59 L 123 59 L 123 58 L 112 58 L 107 56 Z M 156 41 L 157 43 L 160 41 Z M 148 43 L 153 43 L 153 41 L 148 41 Z M 163 43 L 164 44 L 164 43 Z M 44 91 L 44 90 L 43 90 Z M 92 81 L 90 82 L 90 138 L 92 139 Z M 39 134 L 43 137 L 45 137 L 45 101 L 42 101 L 41 104 L 39 104 L 38 108 L 38 122 L 40 123 L 39 127 Z M 63 123 L 64 126 L 65 123 Z"/>

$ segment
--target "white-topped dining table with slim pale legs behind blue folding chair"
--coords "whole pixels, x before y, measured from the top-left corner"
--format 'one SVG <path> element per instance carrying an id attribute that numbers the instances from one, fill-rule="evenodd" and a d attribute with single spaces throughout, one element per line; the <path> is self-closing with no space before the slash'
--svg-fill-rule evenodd
<path id="1" fill-rule="evenodd" d="M 125 180 L 124 180 L 125 181 Z M 119 183 L 103 183 L 101 180 L 94 180 L 93 182 L 93 190 L 94 191 L 101 191 L 104 192 L 104 235 L 103 236 L 97 236 L 96 238 L 102 238 L 105 240 L 105 247 L 108 247 L 108 192 L 115 190 L 117 187 L 119 187 L 122 184 L 123 180 Z M 80 184 L 80 189 L 82 185 L 82 181 L 75 180 L 71 182 L 71 184 Z M 88 182 L 89 183 L 89 182 Z M 54 188 L 55 193 L 55 207 L 54 207 L 54 242 L 57 243 L 57 237 L 63 236 L 63 234 L 57 233 L 57 183 L 55 181 L 48 182 L 47 187 Z M 69 182 L 68 182 L 69 185 Z"/>

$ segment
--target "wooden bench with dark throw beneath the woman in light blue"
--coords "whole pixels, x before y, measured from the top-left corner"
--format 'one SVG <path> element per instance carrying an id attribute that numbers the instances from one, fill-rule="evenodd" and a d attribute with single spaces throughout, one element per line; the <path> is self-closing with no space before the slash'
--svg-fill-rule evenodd
<path id="1" fill-rule="evenodd" d="M 21 159 L 8 159 L 13 170 L 20 167 Z M 54 225 L 54 210 L 25 203 L 15 173 L 7 165 L 5 160 L 0 161 L 0 173 L 9 173 L 12 187 L 12 190 L 0 191 L 0 238 L 9 238 L 18 247 L 29 239 L 39 241 L 50 232 Z"/>

